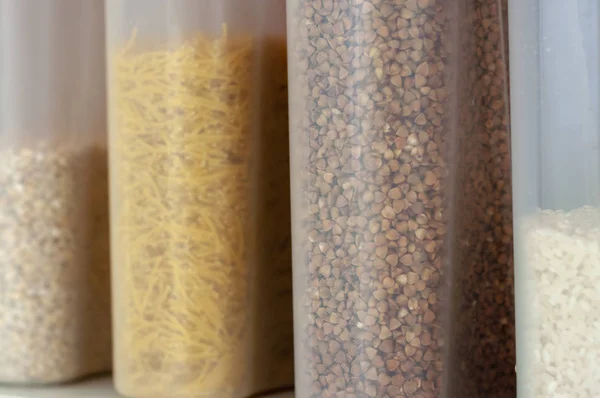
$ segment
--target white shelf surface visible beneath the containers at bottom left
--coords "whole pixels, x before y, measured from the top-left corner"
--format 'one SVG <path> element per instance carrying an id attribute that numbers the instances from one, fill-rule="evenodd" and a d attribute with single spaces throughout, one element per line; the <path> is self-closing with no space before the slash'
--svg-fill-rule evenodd
<path id="1" fill-rule="evenodd" d="M 293 398 L 285 392 L 265 398 Z M 120 398 L 112 386 L 110 377 L 53 387 L 0 387 L 0 398 Z"/>

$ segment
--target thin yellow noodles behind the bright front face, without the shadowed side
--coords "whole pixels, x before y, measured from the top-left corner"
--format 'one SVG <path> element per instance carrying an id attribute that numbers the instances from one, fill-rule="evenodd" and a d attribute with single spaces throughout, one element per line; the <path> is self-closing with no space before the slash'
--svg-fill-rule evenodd
<path id="1" fill-rule="evenodd" d="M 134 48 L 135 33 L 113 64 L 121 386 L 136 397 L 232 396 L 248 377 L 253 44 L 224 31 Z"/>

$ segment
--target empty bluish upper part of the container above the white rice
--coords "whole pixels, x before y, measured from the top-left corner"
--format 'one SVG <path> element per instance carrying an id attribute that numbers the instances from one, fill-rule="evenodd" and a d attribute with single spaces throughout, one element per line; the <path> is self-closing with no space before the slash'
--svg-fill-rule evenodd
<path id="1" fill-rule="evenodd" d="M 598 205 L 598 3 L 509 10 L 515 211 Z"/>

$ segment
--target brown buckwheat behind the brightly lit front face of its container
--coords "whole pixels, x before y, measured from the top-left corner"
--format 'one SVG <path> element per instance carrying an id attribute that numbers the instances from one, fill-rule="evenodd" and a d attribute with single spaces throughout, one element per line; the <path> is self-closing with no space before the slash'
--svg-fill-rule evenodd
<path id="1" fill-rule="evenodd" d="M 434 396 L 444 2 L 296 0 L 288 14 L 297 391 Z"/>

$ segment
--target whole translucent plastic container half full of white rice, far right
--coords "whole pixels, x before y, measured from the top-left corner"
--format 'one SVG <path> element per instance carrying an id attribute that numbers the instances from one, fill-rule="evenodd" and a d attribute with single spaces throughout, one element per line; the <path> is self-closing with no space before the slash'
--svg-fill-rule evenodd
<path id="1" fill-rule="evenodd" d="M 596 397 L 600 6 L 509 5 L 519 397 Z"/>

